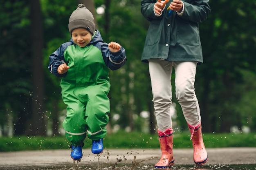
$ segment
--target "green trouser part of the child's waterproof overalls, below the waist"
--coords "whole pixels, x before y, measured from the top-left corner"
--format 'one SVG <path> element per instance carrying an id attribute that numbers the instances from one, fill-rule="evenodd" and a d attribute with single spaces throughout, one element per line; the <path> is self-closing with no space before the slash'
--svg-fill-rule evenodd
<path id="1" fill-rule="evenodd" d="M 109 84 L 99 84 L 86 88 L 76 88 L 75 93 L 63 91 L 63 101 L 67 104 L 67 117 L 63 128 L 67 139 L 75 146 L 81 145 L 86 137 L 98 140 L 106 136 L 110 102 Z M 104 89 L 106 91 L 104 91 Z"/>

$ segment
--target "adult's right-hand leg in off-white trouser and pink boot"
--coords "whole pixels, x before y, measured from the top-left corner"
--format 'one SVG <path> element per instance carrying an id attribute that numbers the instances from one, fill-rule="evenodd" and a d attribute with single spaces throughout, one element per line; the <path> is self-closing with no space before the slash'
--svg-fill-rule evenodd
<path id="1" fill-rule="evenodd" d="M 194 162 L 207 162 L 207 151 L 202 138 L 202 126 L 198 99 L 195 95 L 196 62 L 174 62 L 176 96 L 191 132 Z"/>

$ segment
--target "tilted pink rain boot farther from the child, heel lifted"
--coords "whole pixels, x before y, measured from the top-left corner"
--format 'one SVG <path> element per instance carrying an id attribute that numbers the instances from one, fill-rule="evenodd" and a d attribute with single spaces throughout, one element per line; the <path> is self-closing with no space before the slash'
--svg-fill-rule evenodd
<path id="1" fill-rule="evenodd" d="M 201 122 L 197 126 L 189 125 L 191 133 L 192 144 L 194 148 L 194 162 L 196 165 L 202 165 L 207 162 L 208 156 L 204 147 L 204 141 L 202 137 L 202 126 Z"/>

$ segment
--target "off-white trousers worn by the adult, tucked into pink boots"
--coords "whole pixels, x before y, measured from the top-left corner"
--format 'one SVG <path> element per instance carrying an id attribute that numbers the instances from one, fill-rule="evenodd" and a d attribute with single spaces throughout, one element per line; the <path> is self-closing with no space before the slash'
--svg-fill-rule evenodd
<path id="1" fill-rule="evenodd" d="M 183 115 L 188 124 L 196 126 L 201 121 L 198 99 L 195 95 L 195 72 L 197 62 L 168 62 L 150 59 L 149 73 L 151 79 L 155 117 L 160 131 L 172 127 L 171 74 L 175 70 L 176 97 L 182 107 Z"/>

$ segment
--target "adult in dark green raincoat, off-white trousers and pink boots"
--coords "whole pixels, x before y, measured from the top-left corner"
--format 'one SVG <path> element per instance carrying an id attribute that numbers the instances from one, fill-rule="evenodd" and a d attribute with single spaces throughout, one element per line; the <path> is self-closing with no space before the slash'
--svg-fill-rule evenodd
<path id="1" fill-rule="evenodd" d="M 155 168 L 174 164 L 171 120 L 174 67 L 176 97 L 191 132 L 196 165 L 207 162 L 202 139 L 198 99 L 195 95 L 195 73 L 202 64 L 199 23 L 211 13 L 209 0 L 141 0 L 141 13 L 150 21 L 142 62 L 149 67 L 155 117 L 162 157 Z"/>

